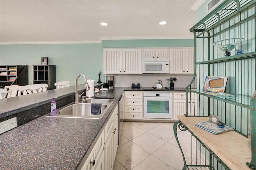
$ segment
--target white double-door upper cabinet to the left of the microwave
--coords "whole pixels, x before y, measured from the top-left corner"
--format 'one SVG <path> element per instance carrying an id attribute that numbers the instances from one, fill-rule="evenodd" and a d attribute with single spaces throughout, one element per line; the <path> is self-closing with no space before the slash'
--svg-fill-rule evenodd
<path id="1" fill-rule="evenodd" d="M 142 74 L 141 49 L 104 49 L 104 74 Z"/>

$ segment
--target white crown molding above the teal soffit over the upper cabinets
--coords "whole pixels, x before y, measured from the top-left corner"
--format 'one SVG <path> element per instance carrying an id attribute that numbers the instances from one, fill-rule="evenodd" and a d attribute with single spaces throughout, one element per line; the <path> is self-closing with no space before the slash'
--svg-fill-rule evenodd
<path id="1" fill-rule="evenodd" d="M 130 36 L 130 37 L 100 37 L 100 40 L 157 40 L 157 39 L 194 39 L 194 36 L 188 37 L 168 37 L 168 36 Z"/>

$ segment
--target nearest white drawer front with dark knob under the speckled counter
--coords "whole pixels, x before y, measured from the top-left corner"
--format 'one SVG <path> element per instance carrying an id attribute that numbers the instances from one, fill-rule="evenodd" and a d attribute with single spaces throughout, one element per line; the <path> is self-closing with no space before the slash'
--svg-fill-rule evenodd
<path id="1" fill-rule="evenodd" d="M 92 163 L 95 161 L 97 164 L 98 159 L 100 158 L 100 154 L 102 154 L 103 146 L 104 146 L 104 131 L 100 134 L 96 144 L 93 146 L 92 151 L 90 152 L 84 166 L 82 167 L 83 170 L 90 170 L 92 168 Z"/>

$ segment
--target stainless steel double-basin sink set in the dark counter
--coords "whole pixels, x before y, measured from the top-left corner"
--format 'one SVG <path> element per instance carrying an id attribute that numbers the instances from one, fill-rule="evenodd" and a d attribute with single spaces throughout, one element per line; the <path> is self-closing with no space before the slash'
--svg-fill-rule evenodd
<path id="1" fill-rule="evenodd" d="M 83 103 L 71 104 L 57 111 L 52 116 L 48 113 L 46 117 L 66 117 L 66 118 L 83 118 L 83 119 L 100 119 L 108 111 L 114 100 L 109 99 L 86 99 Z M 99 115 L 91 114 L 91 103 L 101 103 L 101 111 Z"/>

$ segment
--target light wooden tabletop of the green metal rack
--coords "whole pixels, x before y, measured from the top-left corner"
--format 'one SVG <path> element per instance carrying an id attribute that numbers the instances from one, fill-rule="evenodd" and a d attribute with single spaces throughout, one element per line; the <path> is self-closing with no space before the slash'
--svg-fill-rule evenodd
<path id="1" fill-rule="evenodd" d="M 212 134 L 195 123 L 208 121 L 209 117 L 177 116 L 212 152 L 214 152 L 232 170 L 250 170 L 246 162 L 251 161 L 252 151 L 248 139 L 234 130 L 222 134 Z"/>

